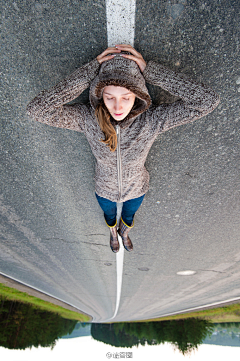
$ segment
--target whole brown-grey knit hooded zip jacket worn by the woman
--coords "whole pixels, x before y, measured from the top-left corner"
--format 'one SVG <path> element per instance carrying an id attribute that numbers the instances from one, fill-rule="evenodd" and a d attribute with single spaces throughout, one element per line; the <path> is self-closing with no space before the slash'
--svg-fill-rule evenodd
<path id="1" fill-rule="evenodd" d="M 160 86 L 180 99 L 153 106 L 145 82 Z M 107 85 L 123 86 L 137 97 L 124 120 L 111 119 L 118 137 L 114 152 L 100 141 L 105 136 L 95 116 Z M 89 104 L 67 104 L 89 86 Z M 206 85 L 153 61 L 141 73 L 134 61 L 117 55 L 102 65 L 94 59 L 50 90 L 42 91 L 28 104 L 27 112 L 47 125 L 83 132 L 96 158 L 96 193 L 113 202 L 125 202 L 148 191 L 149 174 L 144 164 L 156 137 L 207 115 L 218 103 L 218 95 Z"/>

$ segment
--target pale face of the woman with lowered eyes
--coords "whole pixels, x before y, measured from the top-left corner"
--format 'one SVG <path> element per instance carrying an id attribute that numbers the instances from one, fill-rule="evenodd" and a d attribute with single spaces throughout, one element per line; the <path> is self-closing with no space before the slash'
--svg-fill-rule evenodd
<path id="1" fill-rule="evenodd" d="M 113 119 L 120 121 L 130 113 L 135 94 L 121 86 L 108 85 L 103 90 L 103 101 Z"/>

